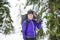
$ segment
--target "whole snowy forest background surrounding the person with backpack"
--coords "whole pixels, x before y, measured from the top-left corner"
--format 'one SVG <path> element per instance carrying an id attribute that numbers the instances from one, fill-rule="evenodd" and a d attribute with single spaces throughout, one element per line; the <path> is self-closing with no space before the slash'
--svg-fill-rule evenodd
<path id="1" fill-rule="evenodd" d="M 0 40 L 23 40 L 22 15 L 34 10 L 42 20 L 37 40 L 60 40 L 60 0 L 0 0 Z"/>

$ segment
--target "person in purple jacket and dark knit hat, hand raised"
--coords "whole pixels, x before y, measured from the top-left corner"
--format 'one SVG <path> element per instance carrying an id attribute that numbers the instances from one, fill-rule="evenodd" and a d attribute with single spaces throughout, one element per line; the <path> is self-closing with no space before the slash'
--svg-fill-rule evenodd
<path id="1" fill-rule="evenodd" d="M 22 24 L 22 33 L 24 40 L 36 40 L 36 28 L 41 28 L 41 22 L 34 20 L 34 11 L 29 10 L 27 12 L 28 28 L 26 30 L 26 20 Z M 25 34 L 25 31 L 27 35 Z"/>

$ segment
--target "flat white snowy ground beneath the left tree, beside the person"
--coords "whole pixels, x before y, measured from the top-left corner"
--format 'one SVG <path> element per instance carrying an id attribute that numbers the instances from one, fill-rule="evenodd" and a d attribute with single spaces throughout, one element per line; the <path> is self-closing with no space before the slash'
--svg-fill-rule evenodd
<path id="1" fill-rule="evenodd" d="M 23 37 L 21 34 L 11 34 L 11 35 L 3 35 L 0 34 L 0 40 L 23 40 Z"/>

